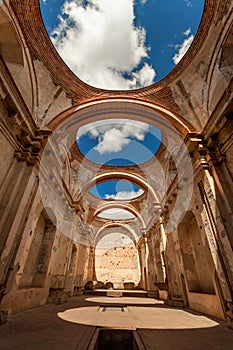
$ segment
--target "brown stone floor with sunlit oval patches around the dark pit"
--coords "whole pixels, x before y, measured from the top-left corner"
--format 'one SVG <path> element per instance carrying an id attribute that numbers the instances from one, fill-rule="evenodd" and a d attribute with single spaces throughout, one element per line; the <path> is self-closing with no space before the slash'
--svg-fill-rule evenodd
<path id="1" fill-rule="evenodd" d="M 95 326 L 137 329 L 148 350 L 233 349 L 233 331 L 222 321 L 155 299 L 91 296 L 9 316 L 0 327 L 0 349 L 87 350 Z"/>

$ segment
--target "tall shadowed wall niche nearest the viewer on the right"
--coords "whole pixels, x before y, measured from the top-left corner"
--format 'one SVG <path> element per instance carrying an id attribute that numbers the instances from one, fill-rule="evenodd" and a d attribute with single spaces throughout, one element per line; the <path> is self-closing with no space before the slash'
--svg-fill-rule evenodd
<path id="1" fill-rule="evenodd" d="M 178 237 L 183 261 L 180 284 L 184 302 L 194 310 L 223 318 L 208 242 L 191 211 L 178 226 Z"/>

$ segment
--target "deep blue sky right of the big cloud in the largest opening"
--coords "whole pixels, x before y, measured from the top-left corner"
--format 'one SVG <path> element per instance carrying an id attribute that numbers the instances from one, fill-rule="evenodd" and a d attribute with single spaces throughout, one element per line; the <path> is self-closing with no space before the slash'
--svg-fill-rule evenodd
<path id="1" fill-rule="evenodd" d="M 175 66 L 173 57 L 179 52 L 176 45 L 196 34 L 204 1 L 150 0 L 142 5 L 137 0 L 137 3 L 135 22 L 146 28 L 151 47 L 149 62 L 156 70 L 155 81 L 159 81 Z"/>

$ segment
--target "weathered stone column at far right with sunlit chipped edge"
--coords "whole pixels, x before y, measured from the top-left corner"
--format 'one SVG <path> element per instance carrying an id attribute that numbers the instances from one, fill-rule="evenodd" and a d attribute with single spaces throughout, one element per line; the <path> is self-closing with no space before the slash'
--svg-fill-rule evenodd
<path id="1" fill-rule="evenodd" d="M 198 183 L 198 188 L 204 207 L 202 216 L 205 222 L 206 237 L 216 269 L 216 285 L 222 299 L 228 325 L 233 328 L 233 318 L 231 317 L 233 308 L 233 253 L 229 235 L 226 232 L 227 225 L 224 225 L 220 214 L 221 204 L 217 198 L 217 191 L 220 193 L 222 191 L 216 166 L 223 159 L 217 157 L 216 154 L 213 157 L 213 154 L 208 152 L 208 149 L 201 143 L 198 145 L 198 151 L 200 164 L 204 171 L 204 180 Z M 227 202 L 224 204 L 227 205 Z"/>

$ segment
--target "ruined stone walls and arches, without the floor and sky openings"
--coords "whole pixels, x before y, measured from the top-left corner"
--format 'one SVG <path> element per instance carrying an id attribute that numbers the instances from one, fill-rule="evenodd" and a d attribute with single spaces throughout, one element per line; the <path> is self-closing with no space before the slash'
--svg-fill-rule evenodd
<path id="1" fill-rule="evenodd" d="M 220 320 L 232 337 L 232 6 L 205 1 L 193 44 L 160 82 L 110 91 L 83 83 L 61 60 L 38 0 L 0 2 L 1 329 L 25 310 L 130 291 Z M 159 128 L 158 151 L 140 166 L 89 160 L 77 130 L 107 118 Z M 143 193 L 107 200 L 89 192 L 112 180 Z M 100 215 L 114 208 L 131 217 Z M 116 233 L 123 243 L 103 250 Z"/>

